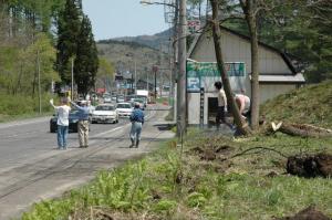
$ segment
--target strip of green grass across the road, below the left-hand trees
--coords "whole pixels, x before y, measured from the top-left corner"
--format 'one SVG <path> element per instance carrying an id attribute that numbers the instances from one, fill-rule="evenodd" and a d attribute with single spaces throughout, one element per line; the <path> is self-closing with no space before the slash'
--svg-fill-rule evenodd
<path id="1" fill-rule="evenodd" d="M 50 98 L 50 94 L 42 95 L 42 114 L 39 114 L 38 97 L 0 94 L 0 123 L 50 115 L 53 111 Z"/>

